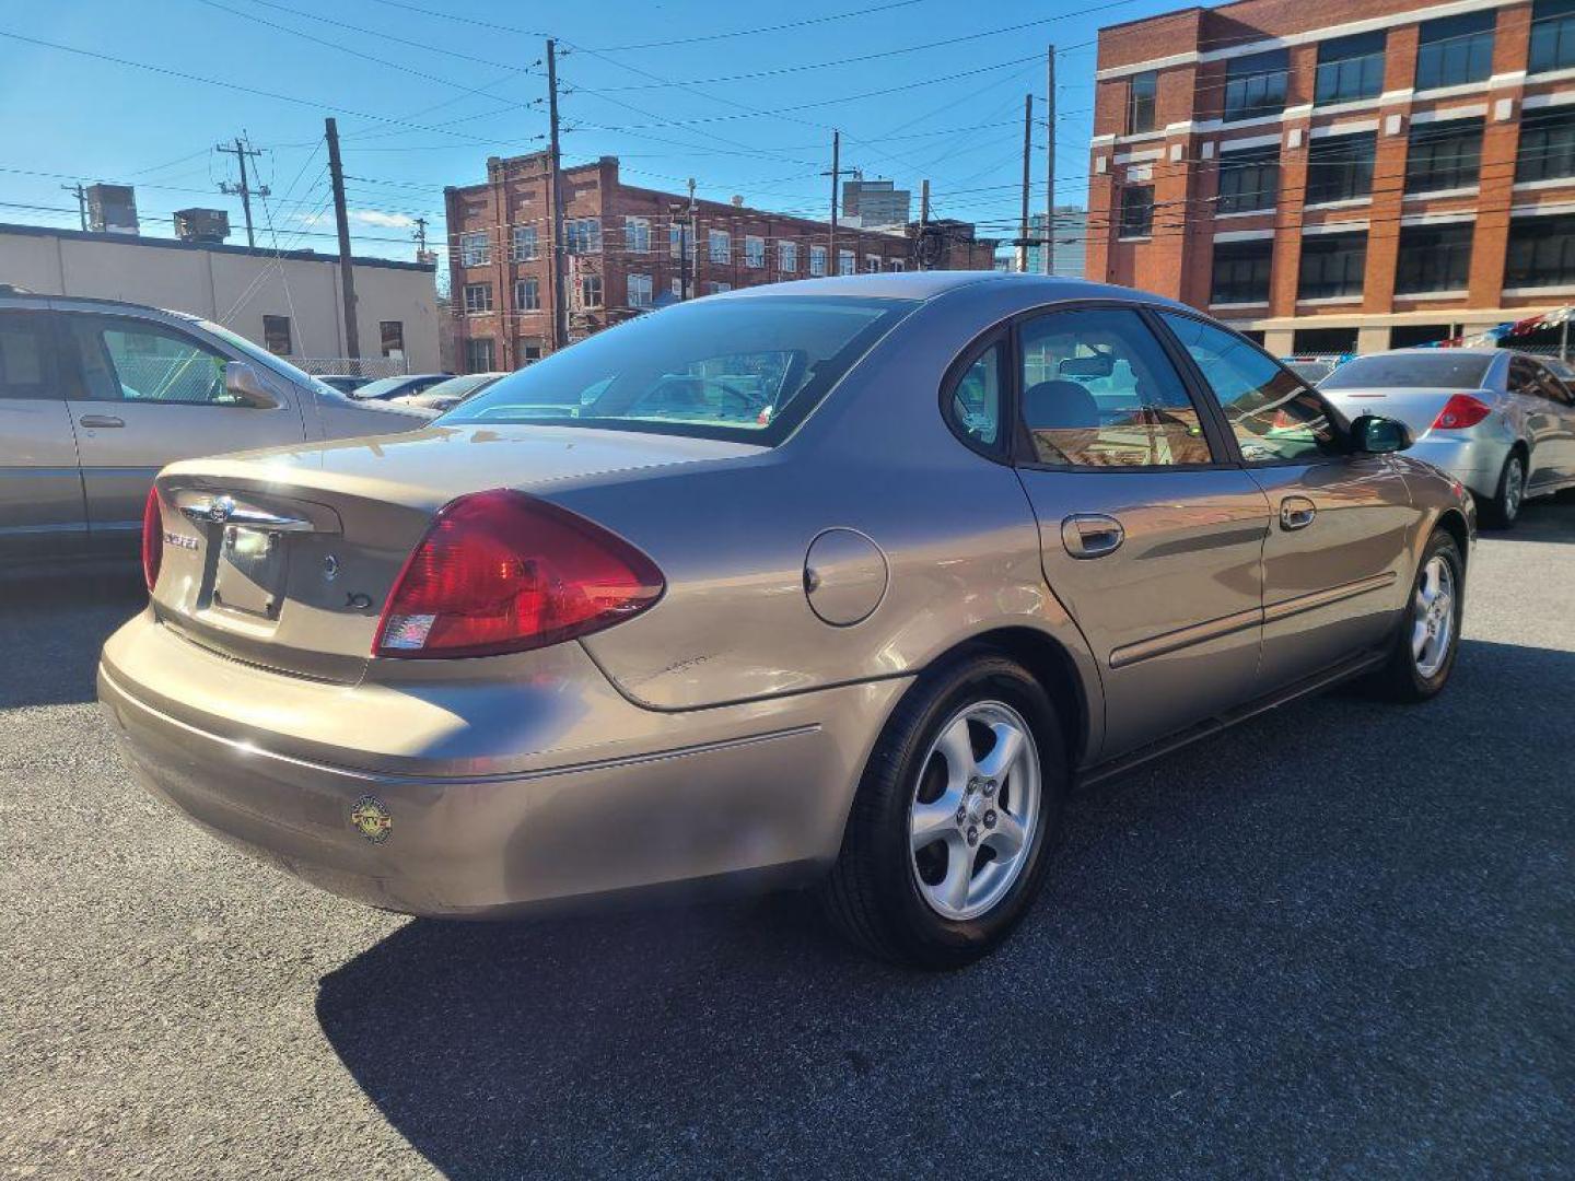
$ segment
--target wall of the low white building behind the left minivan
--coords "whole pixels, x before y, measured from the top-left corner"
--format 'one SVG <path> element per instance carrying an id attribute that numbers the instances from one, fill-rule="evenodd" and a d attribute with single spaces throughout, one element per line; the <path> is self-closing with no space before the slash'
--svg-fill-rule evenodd
<path id="1" fill-rule="evenodd" d="M 438 294 L 432 271 L 356 265 L 361 354 L 380 357 L 381 321 L 403 326 L 413 372 L 438 370 Z M 205 250 L 77 231 L 0 227 L 0 283 L 39 294 L 124 299 L 214 320 L 263 345 L 263 317 L 290 318 L 291 356 L 346 356 L 339 260 Z"/>

